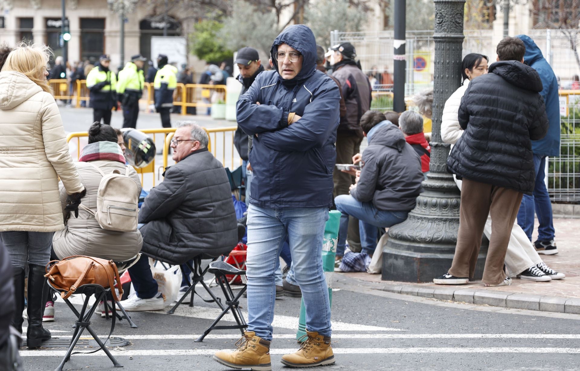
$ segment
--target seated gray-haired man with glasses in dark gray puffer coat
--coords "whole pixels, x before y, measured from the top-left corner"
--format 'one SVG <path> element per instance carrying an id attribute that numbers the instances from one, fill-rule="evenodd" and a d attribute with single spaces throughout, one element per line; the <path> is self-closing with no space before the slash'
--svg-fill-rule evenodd
<path id="1" fill-rule="evenodd" d="M 200 255 L 227 254 L 238 243 L 230 182 L 208 143 L 208 134 L 193 122 L 183 122 L 175 131 L 171 148 L 176 163 L 165 170 L 164 181 L 151 189 L 139 211 L 142 254 L 178 265 Z M 122 302 L 127 311 L 165 307 L 146 256 L 129 268 L 135 293 Z"/>

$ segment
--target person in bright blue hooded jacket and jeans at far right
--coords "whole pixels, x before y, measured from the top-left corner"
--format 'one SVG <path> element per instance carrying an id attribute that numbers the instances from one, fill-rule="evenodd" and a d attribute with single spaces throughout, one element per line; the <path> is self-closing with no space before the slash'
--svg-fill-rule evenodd
<path id="1" fill-rule="evenodd" d="M 540 92 L 546 104 L 548 115 L 548 133 L 541 140 L 532 140 L 534 152 L 534 167 L 536 183 L 534 194 L 524 195 L 520 210 L 517 213 L 517 224 L 532 241 L 534 232 L 534 212 L 538 216 L 538 239 L 534 246 L 538 254 L 557 254 L 554 223 L 552 220 L 552 203 L 546 188 L 546 157 L 560 156 L 560 102 L 558 97 L 558 81 L 552 67 L 542 56 L 538 45 L 526 35 L 518 35 L 525 45 L 524 63 L 538 71 L 542 80 L 543 90 Z"/>

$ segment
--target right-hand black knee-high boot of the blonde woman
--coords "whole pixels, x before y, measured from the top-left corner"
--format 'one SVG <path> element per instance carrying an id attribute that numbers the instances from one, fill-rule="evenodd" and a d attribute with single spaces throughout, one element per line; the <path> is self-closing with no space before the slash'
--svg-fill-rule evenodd
<path id="1" fill-rule="evenodd" d="M 39 347 L 42 341 L 50 339 L 50 331 L 42 328 L 42 316 L 46 305 L 44 277 L 45 267 L 28 264 L 28 329 L 26 341 L 28 348 Z"/>

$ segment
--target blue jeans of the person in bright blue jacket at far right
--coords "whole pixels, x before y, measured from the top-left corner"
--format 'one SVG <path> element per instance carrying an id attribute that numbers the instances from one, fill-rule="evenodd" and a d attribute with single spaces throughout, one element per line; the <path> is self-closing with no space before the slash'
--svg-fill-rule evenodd
<path id="1" fill-rule="evenodd" d="M 517 213 L 517 224 L 524 230 L 530 241 L 534 232 L 534 213 L 538 216 L 538 239 L 550 241 L 554 238 L 554 222 L 552 219 L 552 203 L 548 195 L 548 189 L 544 183 L 546 177 L 546 157 L 534 155 L 534 170 L 536 183 L 534 194 L 524 195 L 521 199 L 520 210 Z"/>

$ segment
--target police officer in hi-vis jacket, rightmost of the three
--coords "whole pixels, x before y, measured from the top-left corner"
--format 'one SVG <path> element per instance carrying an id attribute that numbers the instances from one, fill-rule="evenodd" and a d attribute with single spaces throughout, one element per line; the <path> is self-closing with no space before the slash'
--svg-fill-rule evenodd
<path id="1" fill-rule="evenodd" d="M 169 112 L 173 107 L 173 91 L 177 88 L 177 68 L 167 63 L 167 56 L 159 54 L 157 57 L 157 74 L 153 86 L 155 88 L 155 110 L 161 115 L 161 125 L 171 128 Z"/>

